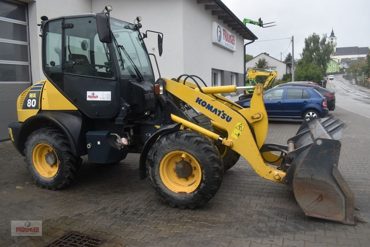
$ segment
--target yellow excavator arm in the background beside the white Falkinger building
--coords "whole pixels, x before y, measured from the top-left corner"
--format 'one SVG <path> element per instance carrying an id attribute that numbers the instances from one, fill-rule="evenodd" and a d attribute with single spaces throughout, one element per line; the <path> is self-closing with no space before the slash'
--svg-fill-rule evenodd
<path id="1" fill-rule="evenodd" d="M 259 68 L 249 68 L 245 73 L 245 86 L 255 86 L 258 84 L 257 78 L 265 79 L 263 83 L 263 91 L 266 91 L 272 87 L 273 82 L 277 77 L 276 70 L 265 70 Z M 262 79 L 262 80 L 263 80 Z M 260 80 L 261 81 L 261 80 Z M 245 94 L 239 96 L 239 100 L 252 98 L 254 89 L 245 90 Z"/>

